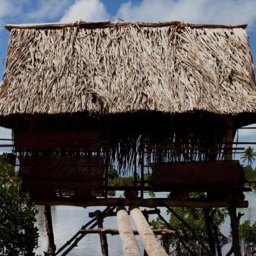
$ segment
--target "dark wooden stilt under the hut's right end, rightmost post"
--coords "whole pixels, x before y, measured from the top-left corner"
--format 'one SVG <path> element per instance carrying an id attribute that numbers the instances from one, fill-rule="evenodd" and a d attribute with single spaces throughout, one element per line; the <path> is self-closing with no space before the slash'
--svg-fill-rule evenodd
<path id="1" fill-rule="evenodd" d="M 230 225 L 232 233 L 232 249 L 234 256 L 241 256 L 241 248 L 239 243 L 239 218 L 236 214 L 236 207 L 228 207 L 228 213 L 230 216 Z"/>

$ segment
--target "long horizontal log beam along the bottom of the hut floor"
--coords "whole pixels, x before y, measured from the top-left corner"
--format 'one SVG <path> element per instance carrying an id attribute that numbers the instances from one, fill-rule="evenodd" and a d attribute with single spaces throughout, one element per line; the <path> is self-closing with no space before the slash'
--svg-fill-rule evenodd
<path id="1" fill-rule="evenodd" d="M 33 198 L 36 205 L 73 205 L 81 207 L 89 206 L 141 206 L 154 208 L 161 206 L 170 207 L 195 207 L 195 208 L 211 208 L 211 207 L 230 207 L 234 206 L 227 200 L 173 200 L 169 198 L 136 198 L 130 200 L 127 198 L 84 198 L 84 199 L 72 199 L 72 198 Z M 236 202 L 236 207 L 246 208 L 248 207 L 248 201 Z"/>

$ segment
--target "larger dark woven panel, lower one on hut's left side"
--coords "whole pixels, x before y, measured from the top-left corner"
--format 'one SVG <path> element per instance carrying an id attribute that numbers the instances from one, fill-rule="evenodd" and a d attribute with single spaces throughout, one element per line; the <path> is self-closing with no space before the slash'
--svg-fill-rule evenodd
<path id="1" fill-rule="evenodd" d="M 31 196 L 102 196 L 104 161 L 94 156 L 20 157 L 19 175 Z"/>

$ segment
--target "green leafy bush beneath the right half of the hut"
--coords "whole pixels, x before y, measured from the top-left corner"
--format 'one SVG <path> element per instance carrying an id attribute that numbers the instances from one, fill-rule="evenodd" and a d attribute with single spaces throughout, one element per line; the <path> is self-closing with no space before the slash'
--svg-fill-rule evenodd
<path id="1" fill-rule="evenodd" d="M 191 195 L 196 198 L 196 196 L 200 194 L 193 193 Z M 205 209 L 199 208 L 175 207 L 173 210 L 175 210 L 175 212 L 188 223 L 189 227 L 201 237 L 207 247 L 211 248 L 211 251 L 212 247 L 214 251 L 221 250 L 221 247 L 230 241 L 230 239 L 223 236 L 220 232 L 221 224 L 224 223 L 225 217 L 227 216 L 226 209 L 209 209 L 209 212 L 207 212 Z M 168 211 L 167 213 L 170 214 Z M 208 220 L 206 216 L 209 216 Z M 178 233 L 177 236 L 170 237 L 170 247 L 172 251 L 170 255 L 208 255 L 198 243 L 193 232 L 173 214 L 170 214 L 168 223 L 170 226 L 166 225 L 161 218 L 158 217 L 156 220 L 152 220 L 150 225 L 152 228 L 156 229 L 172 227 L 172 229 Z M 188 252 L 189 250 L 190 252 Z"/>

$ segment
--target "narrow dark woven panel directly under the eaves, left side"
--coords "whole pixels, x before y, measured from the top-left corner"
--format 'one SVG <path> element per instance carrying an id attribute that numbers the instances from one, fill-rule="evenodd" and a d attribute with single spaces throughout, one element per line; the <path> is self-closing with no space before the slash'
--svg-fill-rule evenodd
<path id="1" fill-rule="evenodd" d="M 15 150 L 99 150 L 99 132 L 91 130 L 17 130 Z"/>

